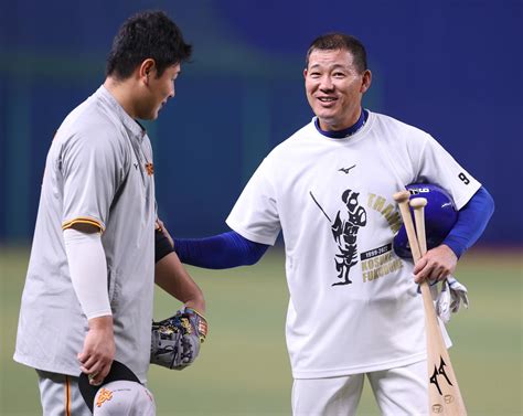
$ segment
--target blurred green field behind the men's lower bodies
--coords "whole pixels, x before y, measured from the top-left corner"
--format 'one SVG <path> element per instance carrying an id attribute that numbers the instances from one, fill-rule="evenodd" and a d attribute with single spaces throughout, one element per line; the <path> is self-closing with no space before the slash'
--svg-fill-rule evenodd
<path id="1" fill-rule="evenodd" d="M 1 416 L 41 414 L 34 371 L 12 361 L 28 259 L 26 247 L 1 247 Z M 522 250 L 472 250 L 458 266 L 471 305 L 448 330 L 469 415 L 523 414 L 522 259 Z M 254 267 L 189 270 L 205 292 L 210 333 L 193 366 L 181 372 L 151 367 L 158 415 L 290 415 L 281 250 L 269 250 Z M 157 319 L 178 308 L 157 291 Z M 378 414 L 366 385 L 359 415 Z"/>

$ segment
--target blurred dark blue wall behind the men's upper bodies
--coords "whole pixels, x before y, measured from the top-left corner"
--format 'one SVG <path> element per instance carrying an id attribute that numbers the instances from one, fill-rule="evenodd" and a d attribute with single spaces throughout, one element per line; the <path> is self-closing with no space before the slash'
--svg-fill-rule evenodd
<path id="1" fill-rule="evenodd" d="M 521 244 L 523 2 L 3 1 L 0 239 L 31 238 L 54 131 L 104 81 L 121 22 L 163 9 L 194 45 L 177 97 L 148 125 L 158 203 L 173 233 L 226 230 L 262 158 L 307 124 L 303 57 L 317 35 L 355 34 L 373 85 L 364 104 L 425 129 L 497 201 L 482 244 Z"/>

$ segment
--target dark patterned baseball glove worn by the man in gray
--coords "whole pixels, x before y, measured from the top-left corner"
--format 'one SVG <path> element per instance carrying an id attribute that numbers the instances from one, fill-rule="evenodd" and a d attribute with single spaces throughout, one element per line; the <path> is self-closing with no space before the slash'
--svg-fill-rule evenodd
<path id="1" fill-rule="evenodd" d="M 172 370 L 191 365 L 200 353 L 200 345 L 207 334 L 207 321 L 191 308 L 160 322 L 152 322 L 151 364 Z"/>

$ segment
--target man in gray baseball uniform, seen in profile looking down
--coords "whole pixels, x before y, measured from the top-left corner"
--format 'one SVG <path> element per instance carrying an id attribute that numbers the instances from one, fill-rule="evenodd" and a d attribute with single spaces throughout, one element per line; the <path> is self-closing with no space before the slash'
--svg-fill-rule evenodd
<path id="1" fill-rule="evenodd" d="M 114 40 L 104 85 L 54 137 L 14 353 L 39 373 L 44 415 L 89 415 L 78 375 L 100 384 L 115 359 L 146 382 L 157 215 L 152 149 L 136 120 L 158 117 L 190 55 L 163 12 L 130 18 Z M 172 281 L 162 270 L 159 285 L 182 301 L 200 297 L 178 266 L 177 257 Z"/>

